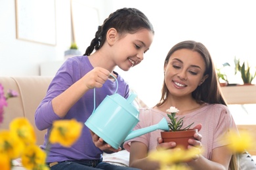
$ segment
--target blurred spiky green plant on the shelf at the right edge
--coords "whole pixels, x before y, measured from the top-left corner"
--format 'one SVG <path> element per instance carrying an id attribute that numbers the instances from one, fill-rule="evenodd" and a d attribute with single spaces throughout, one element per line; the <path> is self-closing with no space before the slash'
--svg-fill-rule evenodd
<path id="1" fill-rule="evenodd" d="M 255 78 L 256 76 L 256 70 L 254 71 L 251 70 L 251 67 L 249 67 L 248 61 L 240 65 L 240 59 L 234 58 L 234 63 L 235 63 L 235 75 L 238 73 L 238 71 L 241 73 L 242 80 L 244 84 L 251 84 L 251 81 Z"/>

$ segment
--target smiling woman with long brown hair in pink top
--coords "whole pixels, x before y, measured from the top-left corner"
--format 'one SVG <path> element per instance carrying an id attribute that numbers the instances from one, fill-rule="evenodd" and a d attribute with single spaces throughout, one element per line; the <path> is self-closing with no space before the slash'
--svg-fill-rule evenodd
<path id="1" fill-rule="evenodd" d="M 203 154 L 187 165 L 192 169 L 228 169 L 232 153 L 221 141 L 229 129 L 237 131 L 236 124 L 221 95 L 211 56 L 200 42 L 183 41 L 171 48 L 164 63 L 164 82 L 160 103 L 152 109 L 140 110 L 140 122 L 135 129 L 156 124 L 167 118 L 169 107 L 179 109 L 178 120 L 184 116 L 183 127 L 192 122 L 202 124 Z M 168 120 L 168 118 L 167 118 Z M 157 147 L 160 131 L 154 131 L 125 142 L 130 152 L 130 165 L 140 169 L 158 169 L 159 164 L 149 162 L 147 154 Z M 191 145 L 194 140 L 188 140 Z M 162 139 L 158 140 L 161 143 Z M 172 148 L 175 143 L 161 143 Z M 160 145 L 157 147 L 159 148 Z"/>

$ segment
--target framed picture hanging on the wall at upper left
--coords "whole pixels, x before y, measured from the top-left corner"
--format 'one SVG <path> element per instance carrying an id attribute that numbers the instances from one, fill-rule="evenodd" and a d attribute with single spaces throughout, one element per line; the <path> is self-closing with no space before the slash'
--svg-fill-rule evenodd
<path id="1" fill-rule="evenodd" d="M 54 0 L 15 0 L 16 39 L 56 45 Z"/>

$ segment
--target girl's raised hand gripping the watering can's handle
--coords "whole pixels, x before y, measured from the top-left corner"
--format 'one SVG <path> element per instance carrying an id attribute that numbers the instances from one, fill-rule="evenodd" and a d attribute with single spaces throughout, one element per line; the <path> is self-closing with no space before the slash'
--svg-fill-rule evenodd
<path id="1" fill-rule="evenodd" d="M 107 69 L 101 67 L 95 67 L 93 70 L 89 71 L 85 76 L 83 76 L 83 82 L 87 88 L 101 88 L 102 85 L 108 80 L 110 72 Z"/>

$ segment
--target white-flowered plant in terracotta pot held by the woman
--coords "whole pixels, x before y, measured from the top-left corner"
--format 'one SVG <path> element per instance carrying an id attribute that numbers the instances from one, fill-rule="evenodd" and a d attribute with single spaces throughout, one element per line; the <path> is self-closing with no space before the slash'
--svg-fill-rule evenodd
<path id="1" fill-rule="evenodd" d="M 190 126 L 194 122 L 186 127 L 183 126 L 183 118 L 177 118 L 176 113 L 179 112 L 175 107 L 170 107 L 166 110 L 167 116 L 170 121 L 168 122 L 169 131 L 161 131 L 161 138 L 164 143 L 175 142 L 178 147 L 188 148 L 188 139 L 194 138 L 194 134 L 198 132 L 198 129 L 190 129 Z"/>

